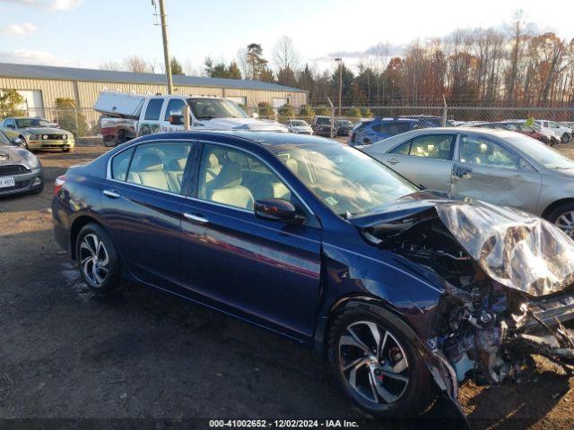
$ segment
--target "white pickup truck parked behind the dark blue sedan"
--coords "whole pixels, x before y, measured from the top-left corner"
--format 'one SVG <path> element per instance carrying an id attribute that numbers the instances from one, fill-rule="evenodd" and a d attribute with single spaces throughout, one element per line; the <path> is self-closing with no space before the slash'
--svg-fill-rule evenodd
<path id="1" fill-rule="evenodd" d="M 287 127 L 276 121 L 249 117 L 234 101 L 215 97 L 103 91 L 94 109 L 102 114 L 100 129 L 104 144 L 113 146 L 144 134 L 183 130 L 180 116 L 186 104 L 193 130 L 289 133 Z"/>

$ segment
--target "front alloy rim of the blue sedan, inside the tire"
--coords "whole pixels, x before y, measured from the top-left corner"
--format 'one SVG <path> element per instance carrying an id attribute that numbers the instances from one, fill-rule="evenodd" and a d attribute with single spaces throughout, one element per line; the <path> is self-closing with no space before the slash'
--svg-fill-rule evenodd
<path id="1" fill-rule="evenodd" d="M 352 390 L 370 402 L 390 405 L 410 381 L 404 348 L 377 323 L 352 323 L 339 339 L 339 367 Z"/>

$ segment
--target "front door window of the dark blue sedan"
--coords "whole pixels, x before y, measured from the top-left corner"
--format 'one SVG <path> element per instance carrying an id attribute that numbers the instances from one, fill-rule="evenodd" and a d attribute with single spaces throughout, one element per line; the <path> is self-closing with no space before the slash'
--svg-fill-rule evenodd
<path id="1" fill-rule="evenodd" d="M 260 199 L 283 199 L 300 207 L 289 188 L 259 159 L 211 144 L 205 144 L 203 152 L 197 191 L 200 199 L 250 211 Z"/>

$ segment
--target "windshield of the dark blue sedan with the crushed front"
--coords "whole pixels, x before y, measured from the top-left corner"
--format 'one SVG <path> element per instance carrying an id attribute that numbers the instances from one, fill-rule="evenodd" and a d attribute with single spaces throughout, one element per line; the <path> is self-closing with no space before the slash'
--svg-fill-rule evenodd
<path id="1" fill-rule="evenodd" d="M 335 213 L 347 217 L 417 188 L 360 150 L 337 142 L 270 145 L 275 156 Z"/>

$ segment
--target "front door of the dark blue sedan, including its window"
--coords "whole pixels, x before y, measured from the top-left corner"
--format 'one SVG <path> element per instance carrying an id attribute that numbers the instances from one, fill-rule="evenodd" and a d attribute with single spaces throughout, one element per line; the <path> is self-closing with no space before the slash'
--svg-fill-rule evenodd
<path id="1" fill-rule="evenodd" d="M 182 208 L 184 287 L 252 322 L 300 339 L 311 336 L 321 231 L 312 222 L 289 226 L 253 211 L 254 202 L 265 198 L 288 200 L 304 211 L 297 196 L 262 159 L 207 143 L 196 184 Z"/>

